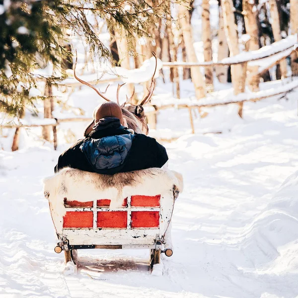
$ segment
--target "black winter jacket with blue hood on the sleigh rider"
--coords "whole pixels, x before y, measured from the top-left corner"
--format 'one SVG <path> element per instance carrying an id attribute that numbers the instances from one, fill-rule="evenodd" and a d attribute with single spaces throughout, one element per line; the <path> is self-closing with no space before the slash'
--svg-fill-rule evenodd
<path id="1" fill-rule="evenodd" d="M 101 120 L 86 139 L 78 140 L 64 151 L 55 166 L 113 175 L 119 172 L 162 167 L 168 160 L 166 150 L 155 139 L 132 134 L 118 118 Z"/>

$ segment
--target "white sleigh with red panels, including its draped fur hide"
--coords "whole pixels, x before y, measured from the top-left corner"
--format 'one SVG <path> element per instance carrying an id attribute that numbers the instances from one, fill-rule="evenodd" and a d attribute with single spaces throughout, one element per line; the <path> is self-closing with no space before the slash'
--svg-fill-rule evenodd
<path id="1" fill-rule="evenodd" d="M 174 171 L 151 168 L 113 176 L 65 168 L 44 180 L 44 194 L 66 264 L 77 249 L 147 248 L 150 269 L 172 255 L 170 221 L 183 188 Z"/>

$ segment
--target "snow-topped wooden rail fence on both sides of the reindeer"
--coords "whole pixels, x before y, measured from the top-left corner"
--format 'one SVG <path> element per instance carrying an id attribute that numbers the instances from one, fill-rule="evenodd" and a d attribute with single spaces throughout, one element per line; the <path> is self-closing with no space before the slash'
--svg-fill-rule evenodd
<path id="1" fill-rule="evenodd" d="M 295 38 L 294 38 L 295 36 Z M 163 63 L 163 67 L 171 67 L 171 68 L 177 68 L 177 67 L 183 67 L 183 68 L 190 68 L 190 67 L 210 67 L 210 66 L 230 66 L 230 65 L 236 65 L 236 64 L 247 64 L 252 61 L 259 61 L 263 59 L 268 59 L 268 58 L 276 58 L 276 59 L 271 59 L 267 65 L 263 65 L 261 68 L 260 72 L 264 72 L 265 70 L 271 68 L 272 66 L 276 65 L 278 62 L 280 62 L 282 59 L 285 59 L 287 56 L 291 55 L 293 51 L 296 50 L 294 47 L 296 43 L 296 35 L 289 36 L 286 39 L 283 39 L 279 42 L 276 42 L 272 44 L 270 47 L 267 48 L 267 50 L 264 48 L 257 50 L 257 51 L 251 51 L 251 52 L 246 52 L 246 56 L 243 55 L 243 53 L 234 56 L 234 57 L 229 57 L 225 58 L 222 61 L 219 62 L 203 62 L 203 63 L 180 63 L 180 62 L 165 62 Z M 244 58 L 246 57 L 246 58 Z M 120 77 L 111 77 L 108 79 L 103 79 L 103 80 L 92 80 L 89 81 L 90 84 L 96 85 L 98 83 L 103 83 L 103 82 L 111 82 L 111 81 L 119 81 L 121 78 Z M 50 96 L 52 94 L 52 85 L 50 85 L 47 82 L 47 88 L 45 90 L 45 95 Z M 80 83 L 76 81 L 72 81 L 70 79 L 66 79 L 63 82 L 59 83 L 60 86 L 66 86 L 66 87 L 78 87 L 81 86 Z M 233 100 L 229 101 L 212 101 L 210 100 L 210 97 L 205 97 L 200 100 L 198 100 L 196 103 L 194 102 L 183 102 L 183 100 L 176 100 L 175 102 L 169 103 L 169 104 L 161 104 L 154 106 L 154 108 L 151 109 L 151 111 L 147 112 L 146 114 L 149 116 L 149 121 L 151 124 L 151 127 L 155 127 L 156 125 L 156 114 L 158 113 L 159 110 L 164 110 L 168 108 L 178 108 L 178 109 L 183 109 L 186 108 L 189 111 L 189 118 L 190 118 L 190 125 L 192 129 L 192 133 L 195 133 L 195 128 L 194 128 L 194 122 L 193 122 L 193 116 L 192 116 L 192 109 L 201 109 L 201 108 L 210 108 L 210 107 L 215 107 L 215 106 L 221 106 L 221 105 L 229 105 L 229 104 L 237 104 L 238 107 L 238 115 L 242 117 L 242 109 L 243 109 L 243 103 L 247 101 L 258 101 L 264 98 L 272 97 L 272 96 L 278 96 L 282 95 L 282 97 L 287 94 L 288 92 L 292 91 L 293 89 L 298 87 L 298 80 L 293 80 L 291 82 L 286 83 L 283 85 L 279 90 L 274 90 L 267 92 L 266 90 L 264 91 L 258 91 L 258 92 L 252 92 L 251 94 L 247 93 L 240 93 L 237 96 L 234 97 Z M 19 129 L 21 127 L 26 127 L 26 128 L 31 128 L 31 127 L 42 127 L 44 129 L 51 129 L 53 130 L 53 135 L 54 135 L 54 149 L 57 149 L 58 146 L 58 140 L 57 140 L 57 126 L 63 122 L 78 122 L 78 121 L 91 121 L 91 118 L 86 118 L 86 117 L 74 117 L 74 118 L 67 118 L 67 119 L 56 119 L 53 118 L 52 112 L 53 112 L 53 96 L 51 97 L 50 103 L 48 102 L 47 105 L 45 104 L 45 115 L 48 115 L 48 119 L 46 120 L 45 123 L 37 123 L 37 124 L 5 124 L 1 125 L 1 128 L 16 128 L 16 133 L 14 136 L 13 140 L 13 145 L 12 145 L 12 150 L 18 148 L 18 135 L 19 135 Z M 46 107 L 47 106 L 47 107 Z M 48 111 L 46 112 L 46 109 Z"/>

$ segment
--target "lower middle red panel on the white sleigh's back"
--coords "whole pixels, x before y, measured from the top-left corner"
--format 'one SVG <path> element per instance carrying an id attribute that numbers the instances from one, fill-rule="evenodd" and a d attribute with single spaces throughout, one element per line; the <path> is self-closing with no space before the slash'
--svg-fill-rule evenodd
<path id="1" fill-rule="evenodd" d="M 97 227 L 126 228 L 126 211 L 99 211 L 97 212 Z"/>

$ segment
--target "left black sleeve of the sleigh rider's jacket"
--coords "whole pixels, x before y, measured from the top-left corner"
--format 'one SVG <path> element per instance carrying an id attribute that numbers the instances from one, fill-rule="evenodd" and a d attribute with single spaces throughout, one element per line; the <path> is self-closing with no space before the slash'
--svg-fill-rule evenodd
<path id="1" fill-rule="evenodd" d="M 79 140 L 73 147 L 64 151 L 58 158 L 58 163 L 54 170 L 57 173 L 60 169 L 65 167 L 71 167 L 74 169 L 79 169 L 83 171 L 91 171 L 90 165 L 86 160 L 83 152 L 79 148 L 83 140 Z"/>

